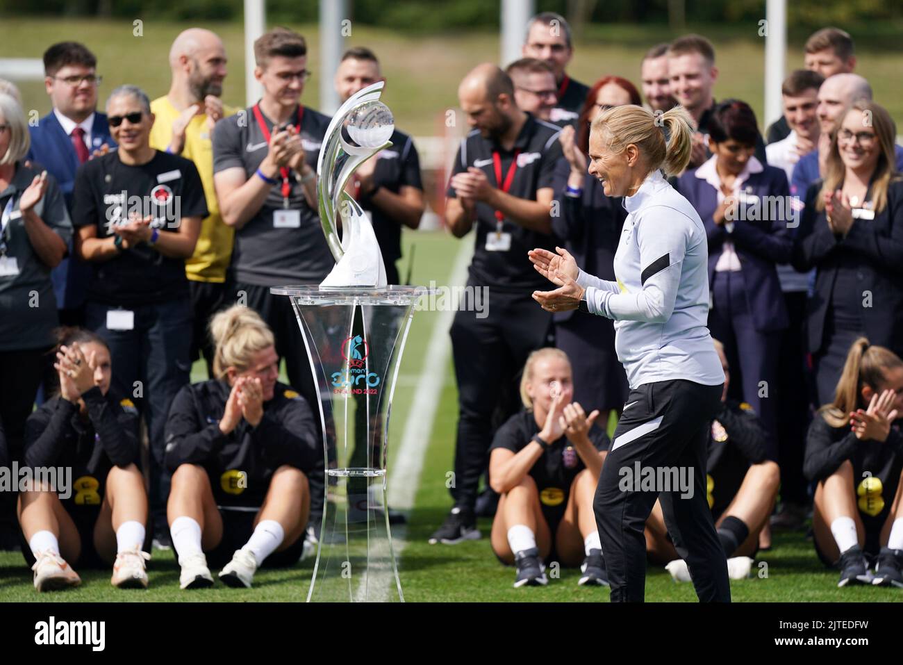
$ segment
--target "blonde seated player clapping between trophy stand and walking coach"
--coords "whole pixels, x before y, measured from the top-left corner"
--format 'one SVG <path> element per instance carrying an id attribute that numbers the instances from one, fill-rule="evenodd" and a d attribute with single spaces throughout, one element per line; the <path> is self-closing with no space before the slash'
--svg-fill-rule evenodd
<path id="1" fill-rule="evenodd" d="M 609 437 L 571 401 L 571 362 L 558 349 L 534 351 L 520 382 L 524 410 L 498 428 L 489 484 L 501 494 L 492 550 L 517 566 L 515 586 L 545 585 L 544 561 L 577 566 L 579 584 L 608 585 L 592 498 Z M 551 557 L 551 558 L 550 558 Z"/>

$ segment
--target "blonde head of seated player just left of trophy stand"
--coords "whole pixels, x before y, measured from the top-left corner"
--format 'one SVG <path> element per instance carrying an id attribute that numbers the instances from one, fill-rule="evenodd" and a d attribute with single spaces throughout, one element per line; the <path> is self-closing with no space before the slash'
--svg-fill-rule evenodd
<path id="1" fill-rule="evenodd" d="M 273 331 L 260 314 L 241 304 L 213 316 L 210 338 L 217 349 L 213 356 L 213 375 L 217 379 L 226 377 L 230 367 L 239 372 L 247 370 L 253 354 L 275 346 Z"/>

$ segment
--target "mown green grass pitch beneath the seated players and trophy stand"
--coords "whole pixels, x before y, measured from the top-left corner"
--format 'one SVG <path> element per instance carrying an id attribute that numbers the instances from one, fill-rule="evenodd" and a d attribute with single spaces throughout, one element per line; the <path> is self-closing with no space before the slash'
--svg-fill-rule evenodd
<path id="1" fill-rule="evenodd" d="M 414 283 L 447 284 L 459 251 L 469 251 L 462 241 L 442 231 L 405 231 L 405 256 L 416 245 Z M 403 264 L 404 265 L 404 264 Z M 403 270 L 403 273 L 406 272 Z M 423 372 L 442 372 L 442 391 L 432 436 L 424 443 L 423 472 L 417 483 L 414 507 L 405 529 L 405 550 L 400 560 L 400 576 L 405 600 L 414 602 L 464 601 L 607 601 L 604 588 L 577 585 L 578 571 L 563 568 L 560 579 L 550 580 L 544 588 L 512 588 L 514 569 L 498 563 L 489 547 L 490 520 L 480 520 L 483 539 L 457 546 L 429 545 L 427 538 L 444 519 L 451 507 L 445 488 L 446 473 L 452 470 L 455 427 L 457 423 L 457 389 L 451 362 L 436 366 L 425 358 L 433 327 L 440 314 L 418 312 L 414 315 L 405 357 L 400 370 L 390 427 L 389 468 L 397 463 L 398 445 L 404 435 L 417 380 Z M 204 379 L 200 363 L 194 367 L 193 379 Z M 391 478 L 391 475 L 390 475 Z M 731 582 L 737 601 L 899 601 L 903 592 L 878 587 L 836 587 L 837 571 L 823 567 L 815 557 L 812 543 L 802 534 L 776 534 L 774 548 L 760 553 L 757 566 L 768 566 L 768 577 L 753 577 Z M 284 570 L 257 573 L 252 589 L 229 589 L 216 585 L 212 589 L 184 592 L 179 589 L 179 570 L 172 552 L 154 550 L 149 564 L 151 586 L 147 591 L 120 591 L 109 584 L 109 571 L 79 571 L 83 584 L 78 589 L 55 594 L 37 594 L 32 575 L 18 552 L 0 552 L 0 602 L 70 602 L 70 601 L 302 601 L 312 574 L 312 559 Z M 754 567 L 754 572 L 759 567 Z M 218 571 L 214 571 L 216 573 Z M 677 585 L 664 568 L 650 567 L 647 577 L 647 600 L 694 601 L 693 586 Z"/>

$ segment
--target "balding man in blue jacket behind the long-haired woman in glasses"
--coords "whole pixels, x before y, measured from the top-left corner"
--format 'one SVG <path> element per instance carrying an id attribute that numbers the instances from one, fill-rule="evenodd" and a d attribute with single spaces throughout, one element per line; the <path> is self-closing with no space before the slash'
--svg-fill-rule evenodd
<path id="1" fill-rule="evenodd" d="M 818 123 L 821 134 L 818 147 L 804 155 L 796 163 L 790 180 L 790 193 L 805 201 L 805 192 L 812 183 L 824 177 L 824 164 L 831 152 L 831 136 L 840 122 L 845 108 L 857 99 L 871 99 L 869 81 L 859 74 L 834 74 L 828 77 L 818 89 Z M 903 169 L 903 148 L 894 145 L 897 152 L 897 170 Z"/>

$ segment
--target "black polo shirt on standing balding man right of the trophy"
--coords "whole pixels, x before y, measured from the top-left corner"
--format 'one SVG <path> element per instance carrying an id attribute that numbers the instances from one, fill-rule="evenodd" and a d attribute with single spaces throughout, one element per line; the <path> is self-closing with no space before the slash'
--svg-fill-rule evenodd
<path id="1" fill-rule="evenodd" d="M 486 173 L 490 184 L 498 186 L 493 152 L 498 151 L 503 180 L 517 153 L 517 171 L 508 193 L 519 199 L 535 201 L 537 190 L 554 187 L 555 163 L 562 156 L 561 144 L 558 142 L 560 131 L 561 127 L 526 114 L 526 122 L 517 135 L 517 141 L 511 150 L 506 150 L 494 139 L 483 138 L 479 130 L 474 129 L 461 140 L 452 175 L 466 172 L 469 166 L 475 166 Z M 457 196 L 451 183 L 446 195 Z M 505 219 L 501 230 L 502 233 L 511 234 L 511 247 L 507 251 L 489 251 L 486 241 L 489 233 L 496 232 L 496 214 L 495 209 L 483 201 L 477 201 L 476 227 L 477 245 L 469 271 L 472 283 L 492 286 L 499 291 L 519 292 L 526 296 L 537 288 L 545 290 L 549 287 L 548 280 L 535 271 L 526 253 L 539 247 L 554 251 L 554 236 L 526 229 Z"/>

